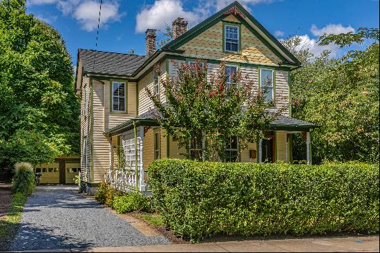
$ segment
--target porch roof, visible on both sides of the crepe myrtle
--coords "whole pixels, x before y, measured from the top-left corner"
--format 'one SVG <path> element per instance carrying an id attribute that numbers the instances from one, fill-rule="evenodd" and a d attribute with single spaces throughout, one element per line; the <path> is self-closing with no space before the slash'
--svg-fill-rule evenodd
<path id="1" fill-rule="evenodd" d="M 104 134 L 114 136 L 123 133 L 124 131 L 128 131 L 133 129 L 133 122 L 136 123 L 136 127 L 146 126 L 146 127 L 160 127 L 157 120 L 155 120 L 155 115 L 157 115 L 156 109 L 151 109 L 143 113 L 142 115 L 138 115 L 131 120 L 127 120 L 122 124 L 118 124 L 116 127 L 112 129 L 107 129 L 104 131 Z M 290 118 L 284 115 L 279 116 L 274 122 L 272 122 L 272 126 L 270 130 L 274 131 L 310 131 L 310 129 L 314 129 L 320 127 L 314 123 L 306 122 L 303 120 L 298 120 L 295 118 Z"/>

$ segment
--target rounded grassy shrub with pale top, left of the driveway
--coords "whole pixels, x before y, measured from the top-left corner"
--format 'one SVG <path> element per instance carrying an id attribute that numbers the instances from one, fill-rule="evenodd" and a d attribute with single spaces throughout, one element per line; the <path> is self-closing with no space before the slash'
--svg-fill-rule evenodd
<path id="1" fill-rule="evenodd" d="M 22 192 L 29 195 L 35 189 L 35 172 L 28 162 L 17 162 L 15 164 L 15 176 L 12 179 L 13 192 Z"/>

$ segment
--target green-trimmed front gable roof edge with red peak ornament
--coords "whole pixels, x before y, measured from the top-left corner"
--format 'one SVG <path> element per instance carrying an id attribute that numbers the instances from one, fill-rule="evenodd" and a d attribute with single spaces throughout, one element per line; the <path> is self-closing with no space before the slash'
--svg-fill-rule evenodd
<path id="1" fill-rule="evenodd" d="M 187 32 L 184 32 L 180 37 L 173 39 L 173 41 L 169 42 L 169 44 L 165 45 L 162 49 L 167 50 L 176 50 L 184 43 L 196 37 L 201 32 L 207 30 L 210 26 L 213 26 L 218 21 L 221 21 L 225 17 L 230 14 L 234 14 L 236 18 L 239 19 L 243 24 L 247 26 L 247 28 L 251 28 L 251 32 L 254 32 L 256 37 L 263 41 L 278 57 L 283 59 L 282 64 L 293 64 L 294 66 L 301 66 L 301 62 L 298 61 L 296 57 L 292 53 L 281 44 L 268 30 L 264 28 L 243 6 L 238 3 L 238 1 L 234 1 L 229 4 L 216 14 L 212 15 L 205 21 L 202 21 L 197 26 L 194 26 Z"/>

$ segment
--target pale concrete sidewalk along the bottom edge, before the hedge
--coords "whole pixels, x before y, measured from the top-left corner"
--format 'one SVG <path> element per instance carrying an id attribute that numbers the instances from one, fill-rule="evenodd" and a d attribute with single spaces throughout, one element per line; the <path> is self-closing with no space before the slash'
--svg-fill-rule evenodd
<path id="1" fill-rule="evenodd" d="M 42 250 L 38 252 L 48 251 Z M 51 250 L 50 252 L 379 252 L 379 236 L 228 241 L 137 247 L 97 247 Z"/>

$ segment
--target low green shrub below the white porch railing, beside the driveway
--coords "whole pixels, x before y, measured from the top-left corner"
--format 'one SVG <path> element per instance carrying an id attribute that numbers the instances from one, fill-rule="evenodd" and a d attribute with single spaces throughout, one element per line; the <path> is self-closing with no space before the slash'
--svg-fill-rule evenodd
<path id="1" fill-rule="evenodd" d="M 118 214 L 129 212 L 151 212 L 151 201 L 138 192 L 129 192 L 124 196 L 116 196 L 113 200 L 113 209 Z"/>

